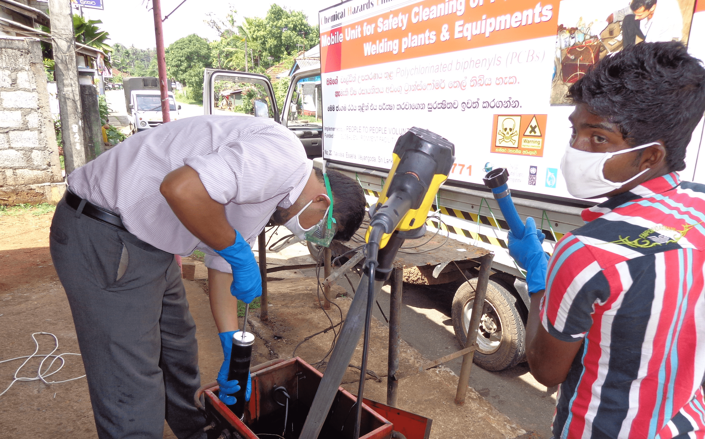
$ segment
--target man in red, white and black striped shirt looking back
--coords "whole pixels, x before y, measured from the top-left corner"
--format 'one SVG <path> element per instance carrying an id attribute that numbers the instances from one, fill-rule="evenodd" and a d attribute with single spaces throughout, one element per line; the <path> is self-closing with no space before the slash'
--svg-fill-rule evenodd
<path id="1" fill-rule="evenodd" d="M 560 384 L 553 435 L 702 438 L 705 185 L 677 171 L 705 111 L 705 69 L 678 42 L 637 44 L 568 97 L 566 185 L 607 201 L 549 261 L 532 218 L 509 244 L 532 293 L 529 366 Z"/>

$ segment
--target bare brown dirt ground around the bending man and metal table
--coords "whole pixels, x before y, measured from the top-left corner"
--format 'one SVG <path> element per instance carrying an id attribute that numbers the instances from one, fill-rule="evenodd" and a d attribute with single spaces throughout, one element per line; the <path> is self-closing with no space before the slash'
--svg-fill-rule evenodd
<path id="1" fill-rule="evenodd" d="M 53 333 L 59 339 L 56 353 L 78 353 L 78 342 L 66 295 L 56 276 L 49 255 L 49 225 L 51 214 L 32 216 L 0 216 L 0 361 L 32 354 L 35 344 L 32 333 Z M 270 255 L 268 255 L 270 256 Z M 308 256 L 286 260 L 272 254 L 269 264 L 301 264 Z M 304 338 L 331 325 L 317 304 L 315 278 L 305 278 L 296 271 L 275 273 L 278 278 L 269 283 L 269 322 L 259 321 L 259 312 L 252 312 L 251 330 L 258 336 L 253 349 L 252 364 L 269 359 L 288 358 Z M 204 291 L 206 269 L 196 261 L 194 281 L 184 280 L 191 313 L 197 323 L 202 382 L 214 381 L 220 367 L 222 352 L 217 329 Z M 345 290 L 334 289 L 338 297 L 329 316 L 338 323 L 350 305 Z M 54 349 L 50 335 L 37 335 L 39 354 Z M 309 363 L 316 363 L 329 350 L 333 332 L 317 335 L 303 342 L 295 354 Z M 380 379 L 368 376 L 365 396 L 386 400 L 386 345 L 388 333 L 373 319 L 372 347 L 369 366 Z M 351 363 L 360 365 L 361 347 Z M 424 359 L 406 343 L 402 344 L 400 369 L 417 366 Z M 33 359 L 20 376 L 36 376 L 39 359 Z M 0 363 L 0 392 L 12 381 L 22 360 Z M 58 363 L 58 361 L 57 361 Z M 55 370 L 56 367 L 51 370 Z M 319 367 L 324 371 L 325 366 Z M 66 356 L 66 366 L 49 377 L 62 381 L 83 374 L 80 357 Z M 359 371 L 349 368 L 343 387 L 357 393 Z M 431 438 L 530 438 L 510 419 L 497 412 L 484 398 L 468 389 L 464 407 L 453 404 L 458 378 L 443 366 L 418 373 L 400 382 L 399 406 L 410 412 L 434 419 Z M 15 383 L 0 396 L 0 431 L 3 438 L 95 438 L 96 431 L 85 378 L 67 383 L 47 385 L 41 381 Z M 165 428 L 164 438 L 174 438 Z"/>

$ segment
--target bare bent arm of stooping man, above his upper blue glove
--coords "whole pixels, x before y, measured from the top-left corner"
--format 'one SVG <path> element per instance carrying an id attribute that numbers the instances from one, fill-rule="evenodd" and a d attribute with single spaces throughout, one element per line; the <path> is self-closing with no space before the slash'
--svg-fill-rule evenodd
<path id="1" fill-rule="evenodd" d="M 212 249 L 222 250 L 235 242 L 235 230 L 228 224 L 225 206 L 210 197 L 198 173 L 182 166 L 168 173 L 159 192 L 181 223 Z"/>

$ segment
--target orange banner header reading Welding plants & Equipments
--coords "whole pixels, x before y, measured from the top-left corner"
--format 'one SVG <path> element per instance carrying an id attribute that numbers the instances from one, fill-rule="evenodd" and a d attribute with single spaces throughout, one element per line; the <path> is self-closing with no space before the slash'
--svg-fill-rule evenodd
<path id="1" fill-rule="evenodd" d="M 322 32 L 321 68 L 328 73 L 556 35 L 558 4 L 419 1 Z"/>

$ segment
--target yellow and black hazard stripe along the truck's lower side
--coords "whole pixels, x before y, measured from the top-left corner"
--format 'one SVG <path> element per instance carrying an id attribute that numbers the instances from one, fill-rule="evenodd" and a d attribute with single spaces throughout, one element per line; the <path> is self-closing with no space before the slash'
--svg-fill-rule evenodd
<path id="1" fill-rule="evenodd" d="M 369 190 L 369 189 L 362 189 L 364 190 L 364 193 L 369 195 L 370 197 L 377 197 L 379 198 L 379 192 L 376 192 L 374 190 Z M 366 206 L 369 208 L 369 204 L 366 204 Z M 438 207 L 436 204 L 431 205 L 431 211 L 429 213 L 434 213 Z M 484 216 L 484 215 L 478 215 L 478 214 L 473 214 L 472 212 L 466 212 L 466 211 L 461 211 L 458 209 L 451 209 L 445 206 L 441 206 L 441 214 L 448 215 L 448 216 L 453 216 L 454 218 L 459 218 L 463 219 L 465 221 L 471 221 L 472 223 L 476 224 L 483 224 L 483 225 L 489 225 L 490 227 L 498 228 L 500 230 L 503 230 L 505 232 L 509 231 L 509 225 L 507 224 L 506 221 L 503 219 L 498 219 L 494 218 L 493 216 Z M 478 240 L 482 241 L 486 244 L 490 245 L 496 245 L 497 247 L 502 247 L 503 249 L 507 248 L 507 242 L 505 240 L 501 240 L 497 237 L 494 236 L 489 236 L 489 235 L 484 235 L 482 233 L 477 233 L 473 232 L 472 230 L 467 230 L 465 228 L 460 228 L 457 225 L 446 225 L 446 223 L 439 223 L 438 221 L 434 221 L 433 219 L 429 219 L 427 221 L 427 225 L 447 231 L 450 233 L 455 233 L 455 235 L 461 235 L 465 236 L 467 238 L 470 238 L 472 240 Z M 546 235 L 546 239 L 549 241 L 554 241 L 558 242 L 561 237 L 563 237 L 563 233 L 558 233 L 558 232 L 553 232 L 551 230 L 541 230 L 541 232 Z"/>

